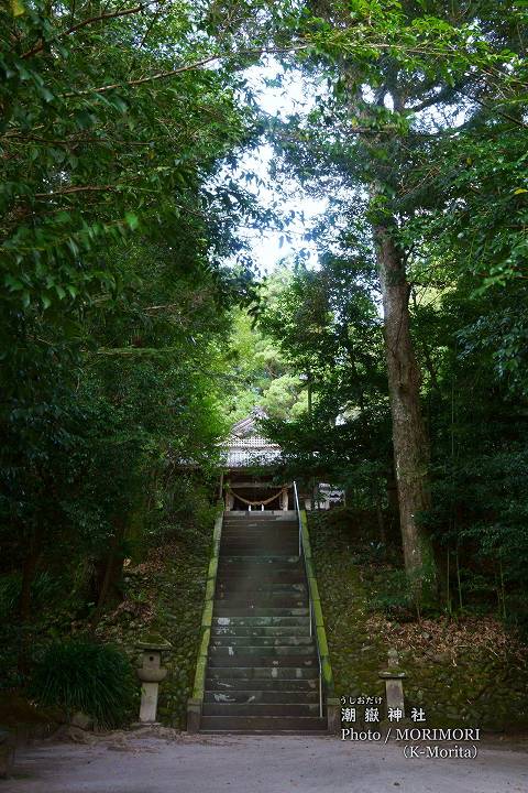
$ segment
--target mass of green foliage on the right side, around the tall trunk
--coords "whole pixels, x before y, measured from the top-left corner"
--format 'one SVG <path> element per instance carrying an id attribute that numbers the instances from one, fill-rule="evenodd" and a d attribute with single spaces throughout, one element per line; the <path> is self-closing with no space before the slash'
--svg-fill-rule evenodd
<path id="1" fill-rule="evenodd" d="M 294 169 L 314 195 L 331 196 L 326 228 L 316 230 L 327 252 L 321 271 L 294 279 L 267 319 L 293 365 L 314 373 L 312 411 L 268 430 L 285 439 L 289 470 L 339 471 L 349 499 L 378 512 L 391 501 L 381 339 L 361 334 L 369 302 L 381 325 L 372 231 L 389 229 L 410 284 L 431 442 L 433 508 L 420 520 L 460 552 L 448 590 L 454 579 L 476 580 L 480 566 L 492 599 L 499 567 L 505 616 L 524 587 L 516 558 L 527 562 L 526 495 L 510 478 L 525 468 L 526 445 L 526 9 L 365 2 L 351 15 L 330 2 L 317 13 L 304 20 L 317 42 L 305 68 L 314 105 L 271 135 L 282 155 L 275 173 Z M 338 260 L 348 278 L 344 298 L 332 302 L 324 281 Z M 350 298 L 365 285 L 363 304 Z M 361 305 L 350 322 L 346 301 Z M 404 318 L 405 300 L 400 309 Z M 348 355 L 354 336 L 360 351 Z M 378 366 L 366 369 L 365 351 L 375 349 Z"/>

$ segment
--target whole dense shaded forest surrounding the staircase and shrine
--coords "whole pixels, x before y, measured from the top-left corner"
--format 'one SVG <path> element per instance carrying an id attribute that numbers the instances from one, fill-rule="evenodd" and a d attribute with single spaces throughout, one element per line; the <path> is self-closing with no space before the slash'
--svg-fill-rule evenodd
<path id="1" fill-rule="evenodd" d="M 88 710 L 128 717 L 98 627 L 128 566 L 207 547 L 219 443 L 255 408 L 277 476 L 315 506 L 341 488 L 339 520 L 369 528 L 387 613 L 526 642 L 527 18 L 2 6 L 4 692 L 68 709 L 45 670 L 103 663 L 121 694 Z M 326 208 L 296 236 L 308 198 Z M 295 251 L 262 272 L 270 229 Z"/>

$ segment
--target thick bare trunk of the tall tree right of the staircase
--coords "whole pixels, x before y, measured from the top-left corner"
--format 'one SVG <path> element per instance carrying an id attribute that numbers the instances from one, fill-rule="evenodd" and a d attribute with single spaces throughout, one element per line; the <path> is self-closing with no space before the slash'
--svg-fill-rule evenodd
<path id="1" fill-rule="evenodd" d="M 391 222 L 374 226 L 376 259 L 382 285 L 385 352 L 393 419 L 393 444 L 398 486 L 399 522 L 405 568 L 421 600 L 436 588 L 432 547 L 419 524 L 430 506 L 428 441 L 420 411 L 420 372 L 409 330 L 409 284 L 402 251 Z"/>

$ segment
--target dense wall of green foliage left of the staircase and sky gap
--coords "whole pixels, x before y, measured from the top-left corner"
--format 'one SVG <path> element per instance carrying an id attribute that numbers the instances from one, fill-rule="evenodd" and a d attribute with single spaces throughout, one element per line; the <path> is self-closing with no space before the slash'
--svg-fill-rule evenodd
<path id="1" fill-rule="evenodd" d="M 117 597 L 124 557 L 160 530 L 182 466 L 210 477 L 229 312 L 252 290 L 246 268 L 219 262 L 242 259 L 235 218 L 256 213 L 226 177 L 252 120 L 235 74 L 213 67 L 223 53 L 207 9 L 11 11 L 0 11 L 0 534 L 2 572 L 23 571 L 25 624 L 32 606 L 42 613 L 41 572 L 67 593 L 80 571 L 76 591 L 100 610 L 105 580 Z"/>

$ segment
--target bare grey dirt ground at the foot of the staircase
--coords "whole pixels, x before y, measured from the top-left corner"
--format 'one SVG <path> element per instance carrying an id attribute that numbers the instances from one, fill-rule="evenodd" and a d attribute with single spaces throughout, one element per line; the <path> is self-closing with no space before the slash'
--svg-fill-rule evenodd
<path id="1" fill-rule="evenodd" d="M 449 746 L 449 745 L 442 745 Z M 16 751 L 3 793 L 526 793 L 526 741 L 483 741 L 475 759 L 406 759 L 403 745 L 327 736 L 91 736 Z"/>

